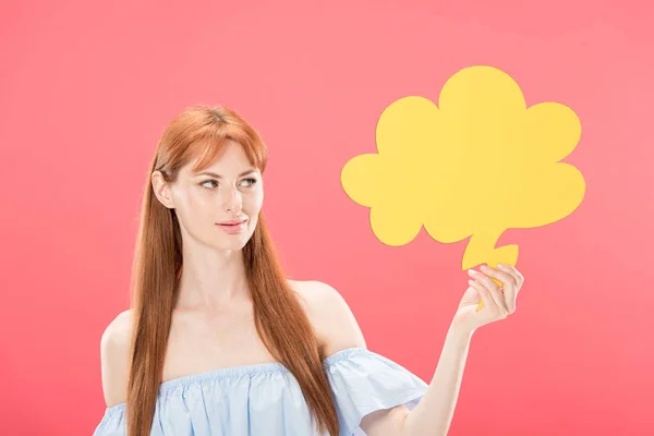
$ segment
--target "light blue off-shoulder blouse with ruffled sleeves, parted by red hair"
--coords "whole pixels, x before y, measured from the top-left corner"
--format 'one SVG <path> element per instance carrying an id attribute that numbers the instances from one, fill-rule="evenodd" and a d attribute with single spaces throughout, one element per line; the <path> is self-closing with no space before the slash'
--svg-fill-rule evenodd
<path id="1" fill-rule="evenodd" d="M 427 389 L 417 376 L 365 348 L 323 362 L 336 401 L 340 436 L 365 435 L 361 419 L 405 404 Z M 108 408 L 94 436 L 124 436 L 124 403 Z M 220 368 L 164 382 L 150 435 L 318 435 L 298 382 L 281 363 Z"/>

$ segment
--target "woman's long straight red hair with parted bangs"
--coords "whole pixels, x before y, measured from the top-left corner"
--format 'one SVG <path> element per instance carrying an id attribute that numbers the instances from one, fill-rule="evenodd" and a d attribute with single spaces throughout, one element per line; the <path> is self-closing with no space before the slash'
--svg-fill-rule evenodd
<path id="1" fill-rule="evenodd" d="M 145 186 L 133 265 L 133 329 L 126 393 L 130 436 L 150 434 L 172 311 L 179 294 L 182 238 L 174 210 L 159 203 L 150 174 L 172 182 L 181 167 L 199 157 L 203 170 L 226 140 L 239 143 L 254 167 L 266 168 L 267 150 L 258 133 L 223 107 L 193 107 L 178 116 L 157 145 Z M 320 432 L 339 433 L 336 407 L 323 372 L 313 327 L 287 282 L 263 214 L 243 247 L 256 330 L 269 352 L 293 374 Z"/>

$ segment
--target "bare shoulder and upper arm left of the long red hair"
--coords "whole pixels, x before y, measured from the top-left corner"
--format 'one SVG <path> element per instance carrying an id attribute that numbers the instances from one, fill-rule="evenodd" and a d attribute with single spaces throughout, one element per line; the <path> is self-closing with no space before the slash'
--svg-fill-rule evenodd
<path id="1" fill-rule="evenodd" d="M 102 392 L 107 407 L 125 401 L 132 311 L 121 312 L 105 329 L 100 339 Z"/>

